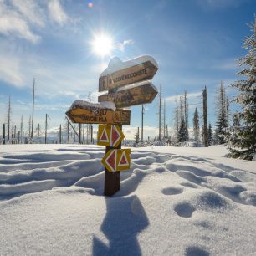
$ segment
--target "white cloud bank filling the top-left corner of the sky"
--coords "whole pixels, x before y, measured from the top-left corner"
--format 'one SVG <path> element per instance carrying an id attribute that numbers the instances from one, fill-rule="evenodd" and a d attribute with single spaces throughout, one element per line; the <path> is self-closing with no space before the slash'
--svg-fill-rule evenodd
<path id="1" fill-rule="evenodd" d="M 34 28 L 44 28 L 51 18 L 62 26 L 72 19 L 59 0 L 0 0 L 0 34 L 23 38 L 33 44 L 41 40 Z"/>

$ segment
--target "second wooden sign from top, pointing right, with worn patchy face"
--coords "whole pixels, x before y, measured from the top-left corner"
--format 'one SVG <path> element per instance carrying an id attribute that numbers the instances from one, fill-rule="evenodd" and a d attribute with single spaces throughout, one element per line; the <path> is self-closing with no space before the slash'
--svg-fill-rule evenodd
<path id="1" fill-rule="evenodd" d="M 112 101 L 117 108 L 151 103 L 158 91 L 150 82 L 130 84 L 116 90 L 115 93 L 100 95 L 98 101 Z"/>

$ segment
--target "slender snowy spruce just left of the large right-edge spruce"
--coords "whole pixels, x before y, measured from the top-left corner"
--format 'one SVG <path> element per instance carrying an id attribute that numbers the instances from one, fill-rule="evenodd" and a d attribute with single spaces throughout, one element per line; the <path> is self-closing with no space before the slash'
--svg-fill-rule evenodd
<path id="1" fill-rule="evenodd" d="M 221 82 L 218 98 L 217 98 L 217 121 L 216 121 L 216 137 L 217 144 L 224 144 L 225 135 L 228 128 L 228 100 L 226 97 L 225 87 L 223 81 Z"/>

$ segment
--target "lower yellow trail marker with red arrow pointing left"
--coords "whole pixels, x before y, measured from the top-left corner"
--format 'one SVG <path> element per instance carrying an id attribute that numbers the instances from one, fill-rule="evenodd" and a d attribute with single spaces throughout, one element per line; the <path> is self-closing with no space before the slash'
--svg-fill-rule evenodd
<path id="1" fill-rule="evenodd" d="M 114 149 L 108 151 L 101 163 L 109 172 L 125 171 L 131 166 L 131 149 Z"/>

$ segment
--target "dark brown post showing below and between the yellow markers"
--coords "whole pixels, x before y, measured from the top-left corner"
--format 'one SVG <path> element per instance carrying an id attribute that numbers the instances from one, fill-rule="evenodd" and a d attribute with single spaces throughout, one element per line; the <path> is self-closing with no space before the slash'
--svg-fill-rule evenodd
<path id="1" fill-rule="evenodd" d="M 122 130 L 122 125 L 119 125 L 120 130 Z M 110 151 L 111 149 L 121 149 L 121 142 L 118 146 L 105 147 L 105 154 Z M 109 172 L 105 168 L 105 182 L 104 182 L 104 194 L 105 196 L 113 196 L 116 192 L 120 190 L 120 171 L 119 172 Z"/>

